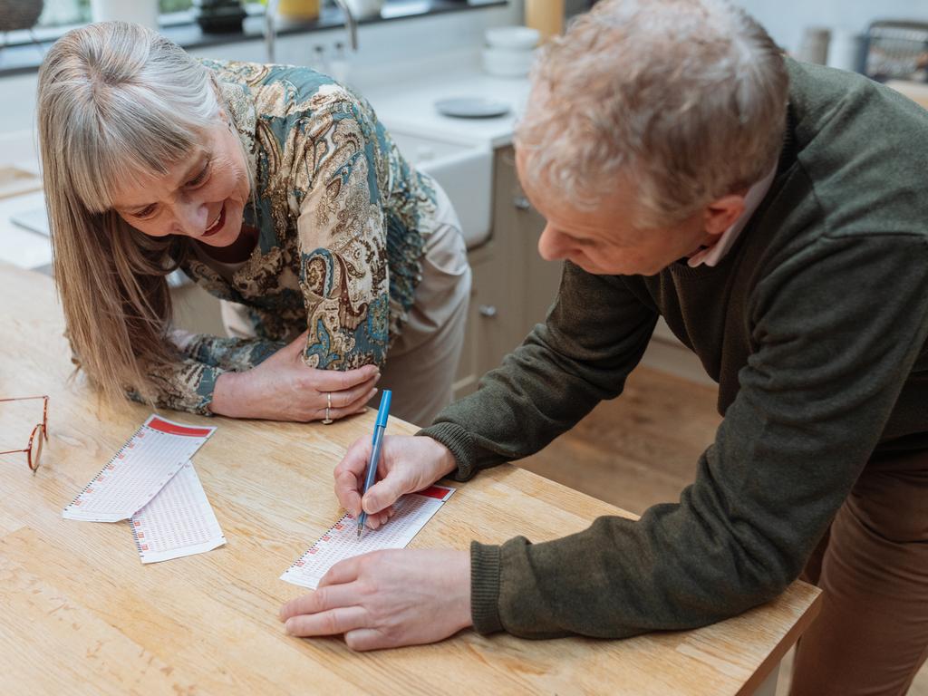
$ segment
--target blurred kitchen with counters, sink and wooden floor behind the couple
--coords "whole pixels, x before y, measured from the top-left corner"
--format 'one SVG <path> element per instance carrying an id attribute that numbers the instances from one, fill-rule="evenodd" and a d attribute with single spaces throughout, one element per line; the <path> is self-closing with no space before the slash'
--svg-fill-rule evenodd
<path id="1" fill-rule="evenodd" d="M 928 2 L 740 4 L 794 57 L 863 72 L 928 108 Z M 536 46 L 588 5 L 0 0 L 0 263 L 47 273 L 51 262 L 33 121 L 36 70 L 62 32 L 97 19 L 127 19 L 158 28 L 195 56 L 309 65 L 367 97 L 406 157 L 431 173 L 455 203 L 473 269 L 456 393 L 470 393 L 544 318 L 557 291 L 558 264 L 541 261 L 535 250 L 544 221 L 516 179 L 512 129 Z M 179 325 L 223 332 L 217 301 L 184 277 L 172 283 Z M 659 326 L 623 397 L 600 405 L 523 464 L 640 512 L 677 499 L 719 421 L 714 384 Z M 780 680 L 781 687 L 786 683 Z M 911 693 L 928 696 L 928 675 Z"/>

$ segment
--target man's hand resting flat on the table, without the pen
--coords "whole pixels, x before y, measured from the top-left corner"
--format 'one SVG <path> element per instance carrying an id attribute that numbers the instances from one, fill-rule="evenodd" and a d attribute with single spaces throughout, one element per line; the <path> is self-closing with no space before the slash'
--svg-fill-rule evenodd
<path id="1" fill-rule="evenodd" d="M 442 640 L 472 623 L 470 554 L 399 548 L 346 559 L 280 620 L 292 636 L 343 633 L 356 651 Z"/>

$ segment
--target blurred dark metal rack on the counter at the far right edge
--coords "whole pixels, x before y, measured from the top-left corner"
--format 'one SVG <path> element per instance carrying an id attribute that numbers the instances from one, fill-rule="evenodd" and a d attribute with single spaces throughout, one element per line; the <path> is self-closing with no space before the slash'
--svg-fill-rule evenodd
<path id="1" fill-rule="evenodd" d="M 864 73 L 880 82 L 928 82 L 928 24 L 891 20 L 870 24 Z"/>

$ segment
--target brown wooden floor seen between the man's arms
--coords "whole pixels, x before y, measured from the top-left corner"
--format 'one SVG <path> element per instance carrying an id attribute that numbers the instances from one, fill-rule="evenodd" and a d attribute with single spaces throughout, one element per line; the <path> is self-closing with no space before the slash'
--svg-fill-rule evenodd
<path id="1" fill-rule="evenodd" d="M 713 387 L 638 367 L 622 396 L 519 463 L 638 514 L 654 503 L 676 502 L 722 420 L 715 396 Z M 787 693 L 791 665 L 792 654 L 783 662 L 778 696 Z M 909 696 L 928 696 L 928 665 Z"/>

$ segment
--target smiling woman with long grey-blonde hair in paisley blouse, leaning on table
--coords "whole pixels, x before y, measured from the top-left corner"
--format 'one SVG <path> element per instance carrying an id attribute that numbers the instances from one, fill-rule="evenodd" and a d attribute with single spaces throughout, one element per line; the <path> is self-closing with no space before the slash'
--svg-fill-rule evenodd
<path id="1" fill-rule="evenodd" d="M 449 401 L 470 289 L 457 217 L 363 99 L 107 22 L 49 51 L 38 119 L 68 334 L 104 393 L 330 421 L 382 368 L 403 418 Z M 171 328 L 177 267 L 245 317 L 237 338 Z"/>

